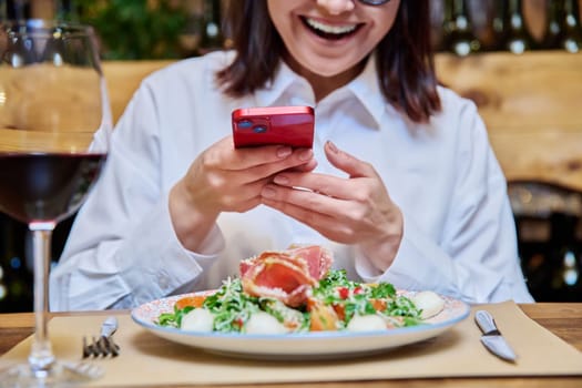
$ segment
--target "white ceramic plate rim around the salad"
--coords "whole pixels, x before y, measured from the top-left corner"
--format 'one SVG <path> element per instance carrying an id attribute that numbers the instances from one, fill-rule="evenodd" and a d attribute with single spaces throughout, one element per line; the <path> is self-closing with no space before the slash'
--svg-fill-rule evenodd
<path id="1" fill-rule="evenodd" d="M 405 293 L 412 295 L 411 293 Z M 305 360 L 364 356 L 436 337 L 469 316 L 470 307 L 461 300 L 445 299 L 445 308 L 428 324 L 387 330 L 350 333 L 319 331 L 284 335 L 248 335 L 188 331 L 155 324 L 162 313 L 172 313 L 175 295 L 143 304 L 132 310 L 133 320 L 154 335 L 174 343 L 234 357 Z"/>

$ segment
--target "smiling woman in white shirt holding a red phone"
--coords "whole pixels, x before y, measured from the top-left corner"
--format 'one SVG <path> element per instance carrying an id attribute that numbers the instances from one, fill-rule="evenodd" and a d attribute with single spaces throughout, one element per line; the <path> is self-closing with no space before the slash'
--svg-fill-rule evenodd
<path id="1" fill-rule="evenodd" d="M 214 288 L 241 259 L 305 243 L 354 279 L 532 302 L 483 123 L 437 86 L 428 7 L 233 1 L 234 52 L 175 63 L 130 102 L 51 308 Z M 313 150 L 235 150 L 231 112 L 267 105 L 314 106 Z"/>

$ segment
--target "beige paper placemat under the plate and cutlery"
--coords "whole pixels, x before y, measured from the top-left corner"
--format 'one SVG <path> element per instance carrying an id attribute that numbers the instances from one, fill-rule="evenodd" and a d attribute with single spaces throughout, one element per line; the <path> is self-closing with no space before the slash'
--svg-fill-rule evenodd
<path id="1" fill-rule="evenodd" d="M 172 384 L 259 384 L 378 380 L 429 377 L 582 375 L 582 353 L 531 320 L 511 302 L 481 305 L 490 310 L 519 356 L 512 365 L 489 354 L 479 341 L 473 316 L 445 334 L 419 344 L 365 358 L 336 361 L 256 361 L 206 354 L 173 344 L 120 317 L 115 334 L 122 354 L 99 359 L 105 377 L 94 386 Z M 474 308 L 473 308 L 474 310 Z M 98 328 L 103 316 L 57 317 L 50 333 L 59 357 L 80 359 L 81 337 Z M 30 338 L 0 358 L 0 368 L 25 360 Z"/>

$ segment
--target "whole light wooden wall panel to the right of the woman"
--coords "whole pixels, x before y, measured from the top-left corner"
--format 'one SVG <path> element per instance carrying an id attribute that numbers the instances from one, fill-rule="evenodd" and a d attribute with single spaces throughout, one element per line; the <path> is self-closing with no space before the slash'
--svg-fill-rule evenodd
<path id="1" fill-rule="evenodd" d="M 582 190 L 582 54 L 439 54 L 437 71 L 477 103 L 510 181 Z"/>

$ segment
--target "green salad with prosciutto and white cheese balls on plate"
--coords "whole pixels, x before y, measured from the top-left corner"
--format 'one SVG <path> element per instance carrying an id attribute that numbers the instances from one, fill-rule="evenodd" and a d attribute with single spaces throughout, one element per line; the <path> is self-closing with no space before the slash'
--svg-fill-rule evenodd
<path id="1" fill-rule="evenodd" d="M 426 324 L 445 307 L 436 293 L 354 282 L 331 264 L 330 253 L 315 245 L 264 252 L 242 261 L 239 276 L 218 289 L 176 298 L 155 324 L 253 335 L 376 331 Z"/>

